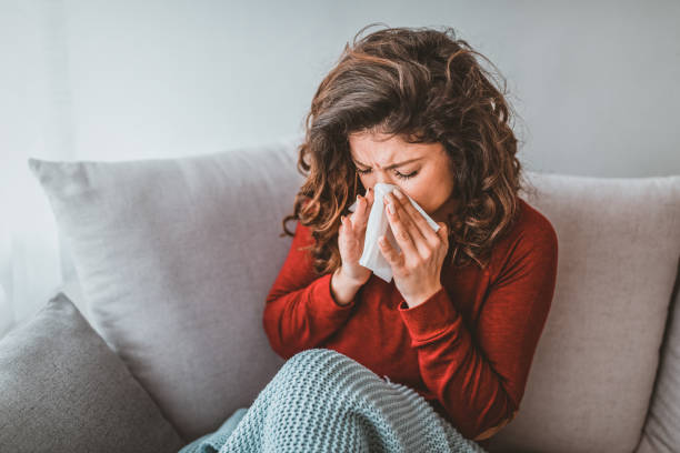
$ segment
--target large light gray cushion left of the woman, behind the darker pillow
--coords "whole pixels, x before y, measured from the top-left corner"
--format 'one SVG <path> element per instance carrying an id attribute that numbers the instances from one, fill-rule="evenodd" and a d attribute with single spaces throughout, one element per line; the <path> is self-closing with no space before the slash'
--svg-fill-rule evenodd
<path id="1" fill-rule="evenodd" d="M 184 439 L 249 406 L 284 362 L 262 310 L 292 241 L 279 234 L 302 182 L 296 162 L 286 139 L 176 159 L 29 160 L 87 315 Z"/>

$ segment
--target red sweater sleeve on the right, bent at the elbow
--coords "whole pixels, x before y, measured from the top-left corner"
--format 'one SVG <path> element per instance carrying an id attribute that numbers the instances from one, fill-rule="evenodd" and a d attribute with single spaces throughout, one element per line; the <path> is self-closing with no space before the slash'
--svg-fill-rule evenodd
<path id="1" fill-rule="evenodd" d="M 486 439 L 514 417 L 554 292 L 558 241 L 549 222 L 511 250 L 474 334 L 443 288 L 419 305 L 399 305 L 423 382 L 468 439 Z"/>

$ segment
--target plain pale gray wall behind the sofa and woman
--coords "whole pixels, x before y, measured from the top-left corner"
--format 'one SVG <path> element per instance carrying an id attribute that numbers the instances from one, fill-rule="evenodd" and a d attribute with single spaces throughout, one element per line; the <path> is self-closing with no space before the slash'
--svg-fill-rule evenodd
<path id="1" fill-rule="evenodd" d="M 63 278 L 28 157 L 168 158 L 302 132 L 362 27 L 452 27 L 532 171 L 680 174 L 678 1 L 0 0 L 0 336 Z"/>

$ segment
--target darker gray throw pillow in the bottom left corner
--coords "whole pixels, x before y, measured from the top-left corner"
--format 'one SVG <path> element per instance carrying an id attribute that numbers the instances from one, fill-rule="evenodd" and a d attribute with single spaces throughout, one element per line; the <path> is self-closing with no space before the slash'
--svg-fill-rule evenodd
<path id="1" fill-rule="evenodd" d="M 1 452 L 177 452 L 182 444 L 63 293 L 0 342 Z"/>

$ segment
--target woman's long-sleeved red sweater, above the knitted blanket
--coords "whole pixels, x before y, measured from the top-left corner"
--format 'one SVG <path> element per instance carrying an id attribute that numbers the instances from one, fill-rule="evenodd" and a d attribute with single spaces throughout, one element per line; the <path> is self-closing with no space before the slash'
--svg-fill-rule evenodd
<path id="1" fill-rule="evenodd" d="M 379 376 L 408 385 L 468 439 L 519 410 L 554 292 L 558 239 L 550 221 L 520 199 L 514 226 L 493 248 L 490 265 L 454 270 L 442 290 L 409 309 L 394 286 L 371 274 L 354 300 L 339 305 L 332 273 L 316 276 L 313 243 L 297 224 L 262 323 L 283 359 L 336 350 Z"/>

